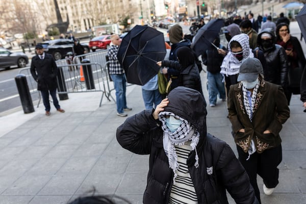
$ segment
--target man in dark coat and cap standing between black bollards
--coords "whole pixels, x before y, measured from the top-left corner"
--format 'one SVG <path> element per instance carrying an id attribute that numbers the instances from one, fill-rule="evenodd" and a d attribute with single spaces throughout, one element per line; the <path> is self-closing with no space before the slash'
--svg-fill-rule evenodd
<path id="1" fill-rule="evenodd" d="M 58 67 L 55 60 L 52 55 L 44 53 L 42 44 L 37 44 L 35 51 L 37 55 L 32 58 L 30 71 L 32 77 L 37 82 L 37 90 L 41 93 L 45 115 L 50 115 L 49 94 L 52 97 L 56 110 L 64 113 L 65 111 L 61 109 L 56 96 Z"/>

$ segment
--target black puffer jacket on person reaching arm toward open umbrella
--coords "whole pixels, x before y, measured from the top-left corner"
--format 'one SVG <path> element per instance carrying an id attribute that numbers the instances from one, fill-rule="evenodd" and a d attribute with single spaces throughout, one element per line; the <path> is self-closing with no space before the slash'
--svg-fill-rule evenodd
<path id="1" fill-rule="evenodd" d="M 184 68 L 178 61 L 164 60 L 162 66 L 180 70 L 178 86 L 195 89 L 203 95 L 200 73 L 195 63 Z"/>

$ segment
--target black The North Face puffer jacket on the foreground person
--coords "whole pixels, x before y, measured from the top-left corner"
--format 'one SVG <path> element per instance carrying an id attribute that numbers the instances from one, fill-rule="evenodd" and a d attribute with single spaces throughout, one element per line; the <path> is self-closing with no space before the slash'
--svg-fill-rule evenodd
<path id="1" fill-rule="evenodd" d="M 224 141 L 207 134 L 206 104 L 203 96 L 193 89 L 177 87 L 169 95 L 165 111 L 175 113 L 193 124 L 200 133 L 197 144 L 199 167 L 195 168 L 195 151 L 187 159 L 188 170 L 198 203 L 228 203 L 227 190 L 236 203 L 257 203 L 248 175 Z M 161 122 L 145 110 L 129 117 L 117 129 L 120 145 L 135 154 L 150 155 L 147 186 L 143 203 L 166 204 L 173 182 L 173 171 L 163 148 Z M 213 169 L 212 174 L 208 168 Z"/>

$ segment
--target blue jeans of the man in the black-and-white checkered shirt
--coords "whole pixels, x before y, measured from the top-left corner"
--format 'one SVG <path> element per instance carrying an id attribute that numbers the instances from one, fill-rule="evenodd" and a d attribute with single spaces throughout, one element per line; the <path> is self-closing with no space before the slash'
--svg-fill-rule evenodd
<path id="1" fill-rule="evenodd" d="M 126 79 L 125 74 L 110 74 L 114 82 L 114 87 L 116 90 L 116 103 L 117 103 L 117 113 L 123 113 L 123 109 L 126 108 Z"/>

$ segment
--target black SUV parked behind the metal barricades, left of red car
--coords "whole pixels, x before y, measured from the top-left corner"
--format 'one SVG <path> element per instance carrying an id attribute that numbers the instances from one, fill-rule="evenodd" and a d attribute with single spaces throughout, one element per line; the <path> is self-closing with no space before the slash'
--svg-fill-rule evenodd
<path id="1" fill-rule="evenodd" d="M 52 55 L 55 60 L 64 59 L 68 52 L 73 52 L 73 40 L 70 39 L 56 39 L 43 41 L 42 46 L 46 53 Z M 89 46 L 87 44 L 81 43 L 85 51 L 89 52 Z M 74 53 L 74 52 L 73 52 Z"/>

